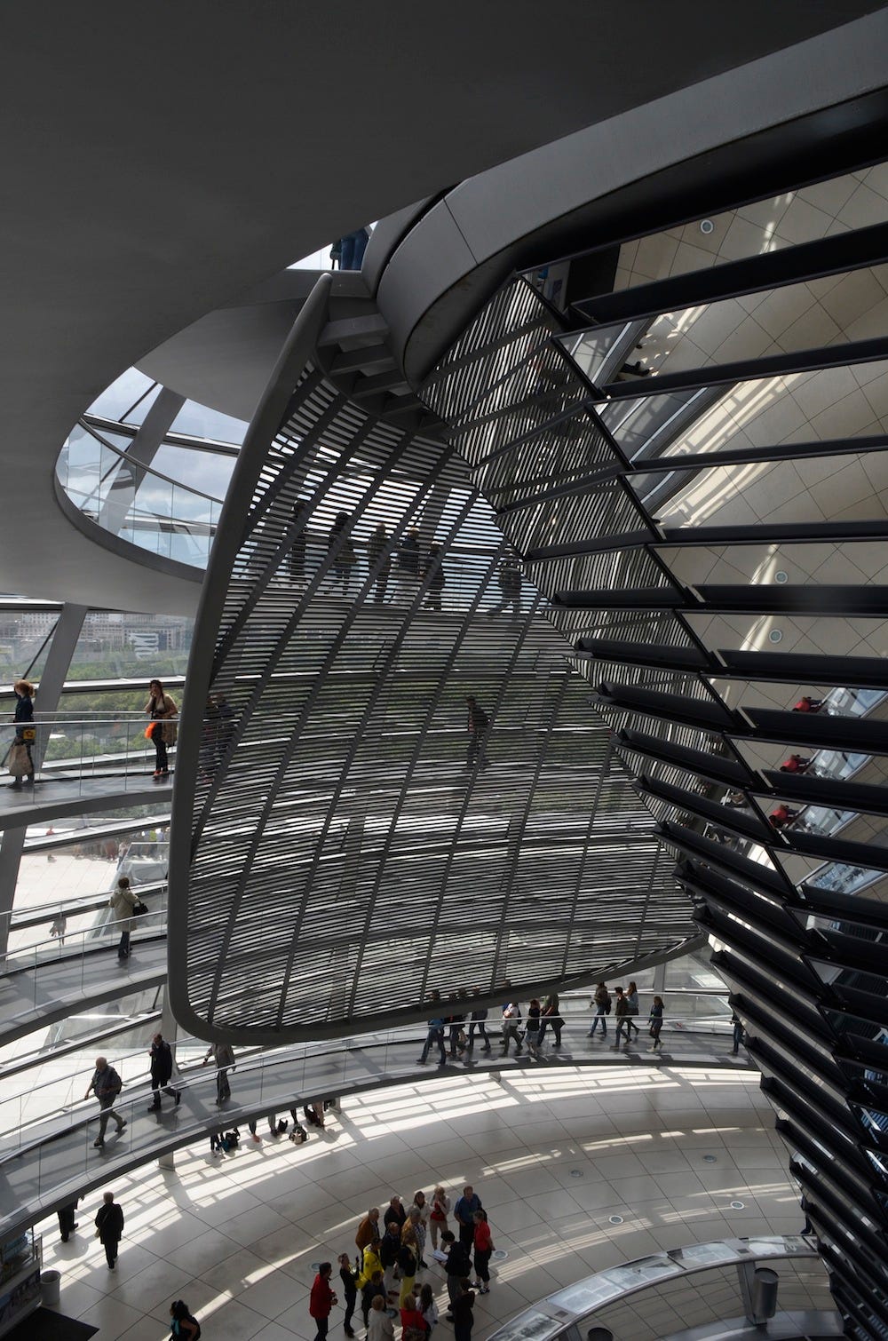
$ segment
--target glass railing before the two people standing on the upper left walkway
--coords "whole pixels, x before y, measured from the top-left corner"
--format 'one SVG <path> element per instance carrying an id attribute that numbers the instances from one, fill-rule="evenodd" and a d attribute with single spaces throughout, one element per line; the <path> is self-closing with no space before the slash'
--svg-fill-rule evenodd
<path id="1" fill-rule="evenodd" d="M 97 783 L 109 794 L 144 787 L 146 775 L 154 772 L 154 746 L 145 736 L 149 724 L 141 712 L 113 717 L 60 713 L 1 723 L 0 766 L 8 776 L 3 786 L 30 798 L 52 783 L 64 783 L 66 791 L 75 789 L 74 795 Z M 173 744 L 168 748 L 174 752 Z M 36 776 L 34 791 L 28 786 L 31 772 Z"/>

